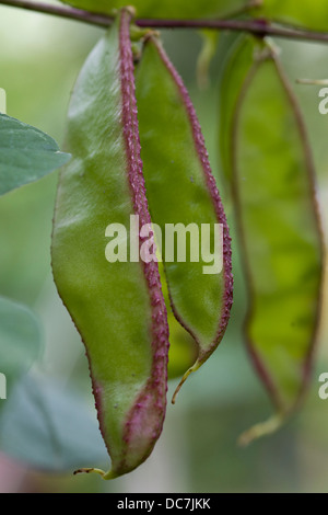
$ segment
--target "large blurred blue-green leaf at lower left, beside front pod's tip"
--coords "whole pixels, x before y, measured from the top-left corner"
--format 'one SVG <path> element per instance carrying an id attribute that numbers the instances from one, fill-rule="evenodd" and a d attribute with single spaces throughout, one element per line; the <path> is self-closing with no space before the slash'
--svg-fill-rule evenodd
<path id="1" fill-rule="evenodd" d="M 0 447 L 31 467 L 69 471 L 107 461 L 96 415 L 61 386 L 25 376 L 0 417 Z"/>

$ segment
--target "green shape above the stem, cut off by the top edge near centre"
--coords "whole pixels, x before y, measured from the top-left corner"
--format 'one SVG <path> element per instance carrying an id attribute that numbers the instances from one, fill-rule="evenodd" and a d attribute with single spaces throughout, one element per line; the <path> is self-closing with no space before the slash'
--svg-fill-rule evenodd
<path id="1" fill-rule="evenodd" d="M 75 8 L 112 14 L 114 9 L 133 5 L 138 18 L 195 19 L 229 16 L 239 13 L 248 0 L 62 0 Z"/>

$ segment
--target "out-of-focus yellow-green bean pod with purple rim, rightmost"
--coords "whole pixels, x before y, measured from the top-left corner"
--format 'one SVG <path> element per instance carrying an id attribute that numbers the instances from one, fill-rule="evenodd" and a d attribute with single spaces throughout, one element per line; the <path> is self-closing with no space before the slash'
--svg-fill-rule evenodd
<path id="1" fill-rule="evenodd" d="M 233 149 L 249 294 L 246 337 L 278 410 L 246 442 L 274 431 L 306 389 L 323 279 L 311 150 L 300 108 L 271 49 L 257 56 L 245 81 Z"/>

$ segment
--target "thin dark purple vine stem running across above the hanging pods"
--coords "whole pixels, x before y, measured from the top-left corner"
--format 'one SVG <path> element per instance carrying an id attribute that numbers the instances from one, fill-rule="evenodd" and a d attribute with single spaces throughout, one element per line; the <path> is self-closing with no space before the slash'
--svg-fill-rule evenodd
<path id="1" fill-rule="evenodd" d="M 44 2 L 30 0 L 0 0 L 0 5 L 21 8 L 28 11 L 52 14 L 55 16 L 90 23 L 102 27 L 112 24 L 113 18 L 107 14 L 92 13 L 82 9 L 49 5 Z M 213 28 L 234 32 L 249 32 L 255 35 L 276 36 L 286 39 L 303 39 L 308 42 L 328 43 L 328 33 L 293 28 L 290 26 L 270 24 L 265 20 L 161 20 L 138 19 L 140 27 L 152 28 Z"/>

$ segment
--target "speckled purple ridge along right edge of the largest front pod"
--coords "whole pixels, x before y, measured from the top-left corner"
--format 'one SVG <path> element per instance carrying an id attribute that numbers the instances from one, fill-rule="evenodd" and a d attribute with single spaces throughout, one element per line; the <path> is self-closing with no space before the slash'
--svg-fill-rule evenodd
<path id="1" fill-rule="evenodd" d="M 129 11 L 120 14 L 119 66 L 122 99 L 122 126 L 127 154 L 127 173 L 130 184 L 134 214 L 140 227 L 151 222 L 145 196 L 140 139 L 137 117 L 137 101 L 133 73 L 133 59 L 130 43 Z M 143 243 L 140 238 L 139 245 Z M 115 471 L 121 473 L 136 468 L 151 454 L 159 438 L 166 410 L 168 324 L 165 301 L 162 294 L 157 263 L 143 263 L 143 273 L 149 289 L 152 311 L 152 368 L 150 378 L 134 400 L 127 414 L 124 427 L 125 455 Z M 128 323 L 128 322 L 127 322 Z"/>

